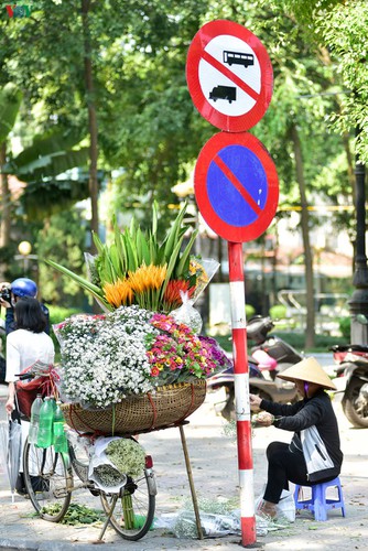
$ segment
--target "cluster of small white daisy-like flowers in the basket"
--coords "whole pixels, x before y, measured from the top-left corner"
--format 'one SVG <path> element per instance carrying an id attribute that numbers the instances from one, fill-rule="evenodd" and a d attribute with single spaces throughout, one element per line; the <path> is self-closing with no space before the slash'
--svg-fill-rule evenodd
<path id="1" fill-rule="evenodd" d="M 61 333 L 61 392 L 68 401 L 105 408 L 152 390 L 145 336 L 156 334 L 152 313 L 121 306 L 99 316 L 75 316 Z"/>

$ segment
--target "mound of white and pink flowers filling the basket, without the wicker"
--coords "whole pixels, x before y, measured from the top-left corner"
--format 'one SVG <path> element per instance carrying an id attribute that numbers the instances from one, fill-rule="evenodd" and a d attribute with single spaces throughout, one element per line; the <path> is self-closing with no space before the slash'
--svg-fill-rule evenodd
<path id="1" fill-rule="evenodd" d="M 54 331 L 62 352 L 62 399 L 88 408 L 106 408 L 162 385 L 204 379 L 230 366 L 215 339 L 137 305 L 73 316 Z"/>

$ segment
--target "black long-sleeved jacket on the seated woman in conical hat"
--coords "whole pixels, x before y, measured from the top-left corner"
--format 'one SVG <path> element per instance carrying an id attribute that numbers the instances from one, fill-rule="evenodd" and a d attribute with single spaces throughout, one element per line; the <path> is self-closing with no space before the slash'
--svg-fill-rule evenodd
<path id="1" fill-rule="evenodd" d="M 293 404 L 262 400 L 260 407 L 275 417 L 274 426 L 294 432 L 299 441 L 302 431 L 315 426 L 334 466 L 328 472 L 324 471 L 314 475 L 313 478 L 317 480 L 339 475 L 343 452 L 340 451 L 337 419 L 326 392 L 321 390 L 312 398 L 305 398 Z M 313 482 L 312 476 L 310 479 Z"/>

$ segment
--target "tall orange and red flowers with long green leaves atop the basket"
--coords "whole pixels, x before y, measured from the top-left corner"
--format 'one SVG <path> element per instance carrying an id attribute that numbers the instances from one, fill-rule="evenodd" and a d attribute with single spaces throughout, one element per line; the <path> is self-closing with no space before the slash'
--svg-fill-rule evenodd
<path id="1" fill-rule="evenodd" d="M 86 280 L 52 260 L 52 267 L 73 278 L 89 291 L 106 311 L 138 304 L 153 312 L 171 312 L 180 306 L 181 291 L 190 298 L 198 296 L 218 267 L 209 276 L 202 260 L 191 253 L 197 231 L 184 247 L 186 206 L 178 213 L 165 238 L 160 241 L 158 210 L 153 204 L 152 227 L 142 231 L 133 218 L 123 231 L 113 220 L 113 239 L 102 244 L 94 234 L 96 257 L 87 257 L 89 279 Z M 182 250 L 182 248 L 184 250 Z"/>

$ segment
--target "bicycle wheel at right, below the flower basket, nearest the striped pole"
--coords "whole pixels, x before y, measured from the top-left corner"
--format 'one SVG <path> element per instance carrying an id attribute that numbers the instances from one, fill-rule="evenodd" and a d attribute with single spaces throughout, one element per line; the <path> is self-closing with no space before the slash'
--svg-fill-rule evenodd
<path id="1" fill-rule="evenodd" d="M 150 468 L 144 469 L 141 478 L 128 477 L 110 518 L 111 526 L 123 539 L 137 541 L 147 534 L 153 522 L 155 494 L 154 475 Z M 107 515 L 110 515 L 115 496 L 101 493 Z"/>

